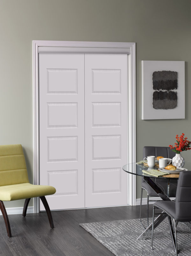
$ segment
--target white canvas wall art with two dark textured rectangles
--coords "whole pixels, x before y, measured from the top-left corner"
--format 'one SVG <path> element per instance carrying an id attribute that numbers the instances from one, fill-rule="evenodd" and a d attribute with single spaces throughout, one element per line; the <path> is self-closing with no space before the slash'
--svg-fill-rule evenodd
<path id="1" fill-rule="evenodd" d="M 185 118 L 184 61 L 142 61 L 142 119 Z"/>

